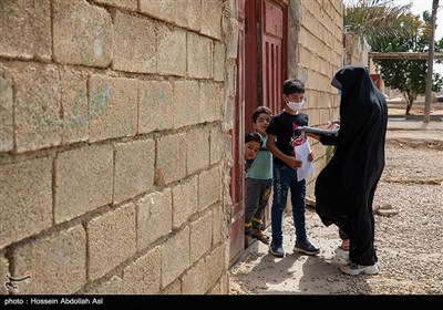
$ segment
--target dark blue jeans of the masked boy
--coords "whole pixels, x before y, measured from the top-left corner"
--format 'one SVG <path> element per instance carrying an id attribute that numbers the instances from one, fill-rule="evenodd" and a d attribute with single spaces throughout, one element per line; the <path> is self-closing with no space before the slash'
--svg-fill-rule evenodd
<path id="1" fill-rule="evenodd" d="M 297 170 L 286 165 L 274 163 L 274 196 L 271 208 L 272 245 L 282 245 L 281 230 L 284 211 L 288 200 L 288 189 L 291 193 L 292 217 L 297 241 L 307 240 L 305 226 L 306 179 L 297 180 Z"/>

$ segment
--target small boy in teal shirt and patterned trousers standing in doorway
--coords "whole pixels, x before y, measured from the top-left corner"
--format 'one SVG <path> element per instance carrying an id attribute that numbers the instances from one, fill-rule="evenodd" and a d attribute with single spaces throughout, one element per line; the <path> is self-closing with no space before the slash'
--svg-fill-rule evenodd
<path id="1" fill-rule="evenodd" d="M 249 245 L 249 234 L 269 245 L 269 238 L 262 234 L 261 228 L 272 186 L 272 155 L 266 148 L 266 128 L 271 116 L 267 106 L 259 106 L 253 113 L 254 130 L 261 135 L 262 141 L 260 151 L 246 174 L 245 248 Z"/>

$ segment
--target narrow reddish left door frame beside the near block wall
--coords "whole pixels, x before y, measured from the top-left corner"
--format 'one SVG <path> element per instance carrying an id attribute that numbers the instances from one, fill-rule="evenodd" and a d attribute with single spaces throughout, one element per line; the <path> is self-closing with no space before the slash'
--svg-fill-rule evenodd
<path id="1" fill-rule="evenodd" d="M 234 265 L 245 247 L 245 0 L 238 0 L 238 51 L 237 94 L 234 106 L 231 149 L 234 166 L 230 169 L 230 197 L 233 214 L 230 220 L 229 262 Z"/>

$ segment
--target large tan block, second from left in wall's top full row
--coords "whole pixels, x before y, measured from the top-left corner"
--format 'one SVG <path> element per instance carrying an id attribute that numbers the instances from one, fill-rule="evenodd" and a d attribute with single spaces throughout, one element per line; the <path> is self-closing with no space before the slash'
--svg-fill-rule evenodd
<path id="1" fill-rule="evenodd" d="M 52 8 L 54 60 L 109 66 L 114 44 L 110 13 L 87 1 L 54 0 Z"/>

